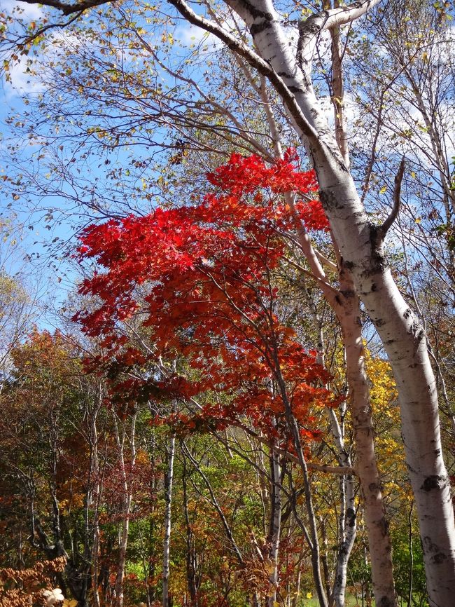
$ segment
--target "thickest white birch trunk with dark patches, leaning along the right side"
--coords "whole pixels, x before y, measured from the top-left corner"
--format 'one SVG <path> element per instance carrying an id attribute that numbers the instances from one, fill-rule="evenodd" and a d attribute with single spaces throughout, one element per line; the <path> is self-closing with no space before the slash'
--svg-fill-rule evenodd
<path id="1" fill-rule="evenodd" d="M 246 22 L 262 59 L 291 94 L 284 101 L 316 170 L 321 200 L 342 253 L 342 265 L 353 275 L 356 290 L 391 362 L 400 399 L 407 467 L 419 517 L 430 606 L 451 607 L 455 588 L 454 510 L 442 458 L 436 382 L 426 339 L 419 321 L 393 281 L 381 246 L 384 235 L 370 223 L 360 203 L 311 86 L 316 36 L 325 27 L 324 22 L 330 26 L 333 20 L 329 20 L 328 13 L 323 13 L 319 20 L 309 19 L 304 23 L 300 69 L 272 1 L 234 0 L 228 4 Z M 262 66 L 262 69 L 265 68 Z"/>

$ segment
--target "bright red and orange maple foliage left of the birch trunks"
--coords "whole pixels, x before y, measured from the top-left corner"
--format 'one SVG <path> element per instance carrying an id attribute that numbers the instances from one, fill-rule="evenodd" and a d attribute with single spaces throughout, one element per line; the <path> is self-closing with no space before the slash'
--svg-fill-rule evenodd
<path id="1" fill-rule="evenodd" d="M 221 192 L 201 203 L 85 230 L 80 259 L 95 259 L 104 270 L 84 280 L 80 292 L 101 303 L 76 317 L 87 334 L 102 336 L 106 354 L 94 364 L 108 369 L 118 400 L 189 402 L 203 395 L 197 415 L 174 414 L 167 422 L 207 429 L 249 416 L 268 431 L 272 418 L 283 416 L 285 400 L 304 426 L 311 426 L 311 404 L 331 404 L 330 393 L 318 387 L 327 374 L 278 315 L 279 235 L 293 228 L 281 193 L 317 190 L 313 172 L 295 170 L 294 154 L 268 168 L 257 156 L 233 154 L 208 175 Z M 309 228 L 327 229 L 318 201 L 300 200 L 297 210 Z M 147 350 L 127 347 L 121 329 L 135 313 Z M 176 357 L 186 360 L 186 376 L 125 378 L 125 370 Z M 302 432 L 317 435 L 312 428 Z"/>

